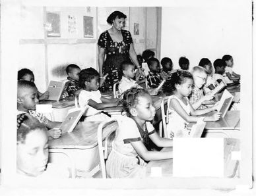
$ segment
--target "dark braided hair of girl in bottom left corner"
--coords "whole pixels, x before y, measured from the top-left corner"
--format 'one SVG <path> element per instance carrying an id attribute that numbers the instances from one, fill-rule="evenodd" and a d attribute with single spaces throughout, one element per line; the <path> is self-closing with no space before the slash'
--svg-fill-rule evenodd
<path id="1" fill-rule="evenodd" d="M 38 129 L 47 131 L 44 124 L 29 114 L 24 113 L 17 116 L 17 142 L 25 143 L 26 135 Z"/>

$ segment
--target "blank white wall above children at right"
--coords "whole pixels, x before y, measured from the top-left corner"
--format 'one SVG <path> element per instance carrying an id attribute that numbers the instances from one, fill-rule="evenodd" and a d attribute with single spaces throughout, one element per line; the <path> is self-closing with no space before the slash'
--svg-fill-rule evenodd
<path id="1" fill-rule="evenodd" d="M 243 42 L 248 33 L 244 31 L 248 16 L 245 3 L 200 6 L 162 8 L 161 57 L 170 57 L 174 68 L 179 68 L 179 57 L 185 56 L 191 68 L 203 57 L 213 63 L 230 54 L 234 59 L 234 70 L 240 73 L 247 57 L 247 43 Z"/>

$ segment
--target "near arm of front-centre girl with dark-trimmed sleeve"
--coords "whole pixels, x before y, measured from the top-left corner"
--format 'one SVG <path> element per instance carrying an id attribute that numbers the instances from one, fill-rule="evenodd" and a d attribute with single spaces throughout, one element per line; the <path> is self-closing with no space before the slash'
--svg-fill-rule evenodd
<path id="1" fill-rule="evenodd" d="M 148 151 L 141 140 L 131 141 L 131 145 L 133 146 L 135 151 L 138 153 L 138 155 L 146 161 L 172 159 L 172 151 L 166 151 L 166 152 Z"/>

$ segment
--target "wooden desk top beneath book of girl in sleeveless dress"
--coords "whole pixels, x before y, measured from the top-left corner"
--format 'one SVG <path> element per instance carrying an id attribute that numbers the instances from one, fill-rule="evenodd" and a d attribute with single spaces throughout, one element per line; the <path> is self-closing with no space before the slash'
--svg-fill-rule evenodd
<path id="1" fill-rule="evenodd" d="M 240 130 L 240 111 L 229 110 L 224 118 L 215 122 L 207 122 L 205 130 Z M 191 128 L 195 122 L 188 124 Z"/>

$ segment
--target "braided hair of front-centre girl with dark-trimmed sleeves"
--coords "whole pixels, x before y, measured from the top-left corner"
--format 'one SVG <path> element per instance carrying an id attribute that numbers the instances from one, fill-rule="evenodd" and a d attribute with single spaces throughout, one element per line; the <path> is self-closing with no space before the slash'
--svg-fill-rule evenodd
<path id="1" fill-rule="evenodd" d="M 121 104 L 123 105 L 122 112 L 127 112 L 127 116 L 131 116 L 130 109 L 135 107 L 139 102 L 139 97 L 143 95 L 149 95 L 148 91 L 145 89 L 138 89 L 137 87 L 132 87 L 123 93 L 123 99 Z"/>

